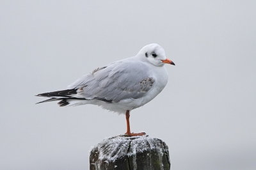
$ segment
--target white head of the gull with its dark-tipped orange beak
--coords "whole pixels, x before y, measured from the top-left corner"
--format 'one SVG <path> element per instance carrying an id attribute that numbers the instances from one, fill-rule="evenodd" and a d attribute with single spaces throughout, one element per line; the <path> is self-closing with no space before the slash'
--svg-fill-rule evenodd
<path id="1" fill-rule="evenodd" d="M 155 66 L 163 66 L 165 63 L 175 65 L 172 60 L 166 58 L 163 47 L 157 43 L 150 43 L 144 46 L 136 56 Z"/>

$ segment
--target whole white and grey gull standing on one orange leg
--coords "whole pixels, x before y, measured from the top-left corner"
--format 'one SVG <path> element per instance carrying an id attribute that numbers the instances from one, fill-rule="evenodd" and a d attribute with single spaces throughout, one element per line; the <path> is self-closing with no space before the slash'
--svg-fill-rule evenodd
<path id="1" fill-rule="evenodd" d="M 165 64 L 175 65 L 166 58 L 163 47 L 150 43 L 136 56 L 99 67 L 70 84 L 65 90 L 36 95 L 50 97 L 37 104 L 60 100 L 58 104 L 61 107 L 99 105 L 109 111 L 125 113 L 125 135 L 145 135 L 144 132 L 131 133 L 130 112 L 150 102 L 166 86 L 168 72 Z"/>

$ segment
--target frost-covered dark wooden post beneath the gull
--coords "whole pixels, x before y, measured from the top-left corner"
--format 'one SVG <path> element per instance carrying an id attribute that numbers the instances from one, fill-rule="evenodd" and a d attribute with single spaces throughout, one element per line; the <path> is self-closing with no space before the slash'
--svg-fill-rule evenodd
<path id="1" fill-rule="evenodd" d="M 111 137 L 90 151 L 90 169 L 170 169 L 168 146 L 147 135 Z"/>

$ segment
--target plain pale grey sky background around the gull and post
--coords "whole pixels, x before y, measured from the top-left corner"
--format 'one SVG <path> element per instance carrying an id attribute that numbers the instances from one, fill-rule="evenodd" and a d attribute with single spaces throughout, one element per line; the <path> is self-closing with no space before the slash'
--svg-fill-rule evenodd
<path id="1" fill-rule="evenodd" d="M 88 169 L 125 132 L 93 105 L 35 105 L 93 69 L 159 43 L 176 66 L 133 132 L 168 144 L 173 170 L 256 169 L 255 1 L 0 1 L 0 169 Z"/>

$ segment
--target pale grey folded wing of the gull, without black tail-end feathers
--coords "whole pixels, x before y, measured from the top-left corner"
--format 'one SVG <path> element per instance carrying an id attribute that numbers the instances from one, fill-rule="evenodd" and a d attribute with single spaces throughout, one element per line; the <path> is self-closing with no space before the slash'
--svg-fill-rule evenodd
<path id="1" fill-rule="evenodd" d="M 76 81 L 70 88 L 86 99 L 119 102 L 126 98 L 143 97 L 155 80 L 144 63 L 122 61 L 99 68 Z"/>

